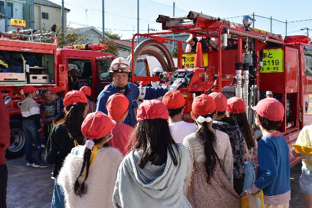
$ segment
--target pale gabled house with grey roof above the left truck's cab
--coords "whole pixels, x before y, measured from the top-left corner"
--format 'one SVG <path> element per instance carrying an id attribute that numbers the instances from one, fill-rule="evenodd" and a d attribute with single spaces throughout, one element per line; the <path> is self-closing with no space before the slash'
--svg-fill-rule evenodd
<path id="1" fill-rule="evenodd" d="M 99 38 L 102 37 L 102 32 L 96 29 L 93 26 L 84 27 L 84 28 L 68 28 L 65 31 L 66 34 L 76 33 L 77 35 L 84 37 L 85 42 L 79 42 L 78 44 L 84 43 L 99 43 Z M 105 36 L 106 37 L 106 36 Z M 107 38 L 107 37 L 106 37 Z"/>

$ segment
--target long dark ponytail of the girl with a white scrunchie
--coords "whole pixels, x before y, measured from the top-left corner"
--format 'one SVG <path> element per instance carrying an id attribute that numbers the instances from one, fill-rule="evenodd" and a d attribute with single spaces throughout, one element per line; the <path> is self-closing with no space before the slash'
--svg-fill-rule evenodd
<path id="1" fill-rule="evenodd" d="M 204 117 L 211 117 L 215 112 L 205 115 Z M 206 173 L 207 182 L 210 183 L 210 178 L 213 177 L 213 171 L 217 165 L 220 165 L 220 160 L 214 150 L 216 138 L 214 133 L 208 128 L 208 122 L 202 123 L 202 127 L 196 132 L 197 137 L 204 143 L 205 156 L 206 156 Z"/>

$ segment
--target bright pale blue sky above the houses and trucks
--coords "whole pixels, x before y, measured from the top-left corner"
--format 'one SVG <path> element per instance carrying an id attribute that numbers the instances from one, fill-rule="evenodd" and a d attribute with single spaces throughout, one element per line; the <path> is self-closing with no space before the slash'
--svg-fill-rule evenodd
<path id="1" fill-rule="evenodd" d="M 61 0 L 50 0 L 61 5 Z M 121 35 L 121 39 L 130 39 L 137 33 L 137 2 L 138 0 L 104 0 L 105 30 Z M 207 0 L 175 0 L 175 16 L 186 16 L 189 11 L 203 12 L 214 17 L 228 18 L 241 23 L 242 15 L 268 17 L 285 22 L 287 20 L 287 35 L 305 34 L 312 30 L 312 1 L 207 1 Z M 67 25 L 71 28 L 94 26 L 102 32 L 102 0 L 64 0 L 64 6 L 71 11 L 67 14 Z M 161 24 L 155 22 L 159 14 L 173 16 L 173 1 L 171 0 L 139 0 L 140 33 L 150 29 L 161 31 Z M 239 17 L 237 17 L 239 16 Z M 255 28 L 270 32 L 270 19 L 255 16 Z M 233 17 L 233 18 L 229 18 Z M 285 23 L 272 21 L 272 32 L 285 36 Z M 298 21 L 298 22 L 290 22 Z M 306 34 L 305 34 L 306 35 Z M 312 31 L 309 31 L 312 37 Z"/>

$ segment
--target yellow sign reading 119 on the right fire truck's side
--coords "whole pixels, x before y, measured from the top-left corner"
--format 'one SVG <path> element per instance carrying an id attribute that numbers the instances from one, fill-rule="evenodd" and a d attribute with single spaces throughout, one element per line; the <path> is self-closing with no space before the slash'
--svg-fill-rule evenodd
<path id="1" fill-rule="evenodd" d="M 260 73 L 284 72 L 284 52 L 282 49 L 263 50 Z"/>

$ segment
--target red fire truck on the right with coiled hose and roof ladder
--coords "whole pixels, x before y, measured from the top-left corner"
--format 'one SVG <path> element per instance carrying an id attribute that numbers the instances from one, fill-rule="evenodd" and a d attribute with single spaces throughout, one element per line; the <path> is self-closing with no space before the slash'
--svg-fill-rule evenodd
<path id="1" fill-rule="evenodd" d="M 250 124 L 260 138 L 254 111 L 251 106 L 272 91 L 279 100 L 285 114 L 278 130 L 292 150 L 303 126 L 312 124 L 312 45 L 310 38 L 286 36 L 251 28 L 252 18 L 244 16 L 243 24 L 215 18 L 190 11 L 187 16 L 169 17 L 159 15 L 157 22 L 163 32 L 135 34 L 132 38 L 131 67 L 147 49 L 162 51 L 164 43 L 176 42 L 178 47 L 177 68 L 166 50 L 167 67 L 160 77 L 132 77 L 134 81 L 166 81 L 170 86 L 176 79 L 186 100 L 183 118 L 191 122 L 190 112 L 193 99 L 200 94 L 219 92 L 230 98 L 240 97 L 246 103 Z M 186 41 L 169 38 L 168 34 L 190 34 L 195 44 L 192 52 L 183 53 Z M 167 36 L 161 36 L 166 34 Z M 146 37 L 136 49 L 137 36 Z M 204 51 L 204 52 L 203 52 Z M 196 53 L 196 54 L 195 54 Z M 134 64 L 133 64 L 134 63 Z M 300 158 L 291 155 L 291 165 Z"/>

